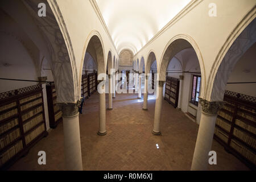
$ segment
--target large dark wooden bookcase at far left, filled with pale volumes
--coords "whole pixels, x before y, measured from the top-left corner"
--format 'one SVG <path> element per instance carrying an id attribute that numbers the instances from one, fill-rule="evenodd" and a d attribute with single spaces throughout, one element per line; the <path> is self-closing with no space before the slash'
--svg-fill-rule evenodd
<path id="1" fill-rule="evenodd" d="M 0 93 L 0 169 L 47 136 L 42 85 Z"/>

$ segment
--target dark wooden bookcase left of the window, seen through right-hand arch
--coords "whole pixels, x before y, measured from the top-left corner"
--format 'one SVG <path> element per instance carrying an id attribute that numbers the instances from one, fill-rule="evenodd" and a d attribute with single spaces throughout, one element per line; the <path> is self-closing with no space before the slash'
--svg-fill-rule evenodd
<path id="1" fill-rule="evenodd" d="M 179 101 L 179 88 L 180 81 L 177 78 L 170 76 L 166 77 L 166 90 L 164 92 L 164 100 L 168 101 L 169 104 L 177 107 Z"/>

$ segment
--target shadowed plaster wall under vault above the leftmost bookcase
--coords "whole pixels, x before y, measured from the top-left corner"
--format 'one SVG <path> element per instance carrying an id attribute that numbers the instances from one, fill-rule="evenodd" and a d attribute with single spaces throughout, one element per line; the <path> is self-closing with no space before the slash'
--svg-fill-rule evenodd
<path id="1" fill-rule="evenodd" d="M 0 77 L 38 80 L 34 62 L 22 43 L 12 36 L 2 34 L 0 34 L 0 40 Z M 0 92 L 35 84 L 36 82 L 0 80 Z"/>

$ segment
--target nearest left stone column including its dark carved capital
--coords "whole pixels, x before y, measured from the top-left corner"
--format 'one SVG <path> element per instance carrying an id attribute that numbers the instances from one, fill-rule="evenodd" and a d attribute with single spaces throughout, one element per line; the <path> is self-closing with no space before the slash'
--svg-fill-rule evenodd
<path id="1" fill-rule="evenodd" d="M 65 168 L 68 171 L 82 171 L 82 154 L 78 107 L 81 101 L 58 104 L 63 117 Z"/>

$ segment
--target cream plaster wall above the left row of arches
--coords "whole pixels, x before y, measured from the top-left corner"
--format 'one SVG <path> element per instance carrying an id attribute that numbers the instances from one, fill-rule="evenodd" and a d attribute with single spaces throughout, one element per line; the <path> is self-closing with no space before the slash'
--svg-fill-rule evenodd
<path id="1" fill-rule="evenodd" d="M 104 48 L 105 68 L 108 60 L 108 52 L 112 52 L 113 57 L 118 58 L 118 52 L 115 50 L 104 26 L 98 18 L 90 1 L 84 0 L 56 0 L 61 14 L 65 20 L 69 36 L 71 38 L 73 51 L 75 53 L 77 71 L 79 76 L 82 74 L 82 64 L 84 61 L 85 51 L 90 37 L 94 32 L 98 32 L 102 39 Z M 80 88 L 79 88 L 80 89 Z"/>

